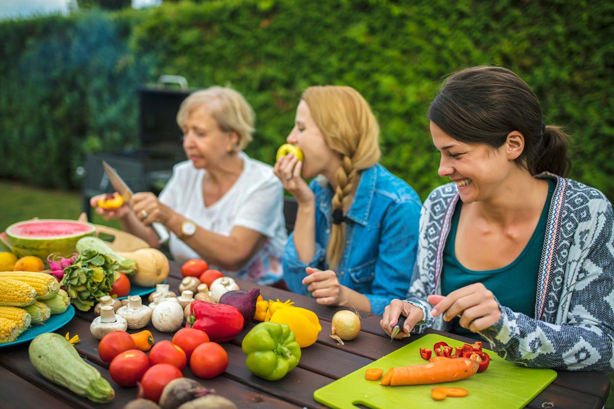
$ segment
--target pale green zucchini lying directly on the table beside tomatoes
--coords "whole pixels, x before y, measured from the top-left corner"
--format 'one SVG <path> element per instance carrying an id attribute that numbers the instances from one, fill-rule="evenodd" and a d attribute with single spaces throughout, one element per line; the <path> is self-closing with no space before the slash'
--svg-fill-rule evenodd
<path id="1" fill-rule="evenodd" d="M 96 403 L 111 402 L 115 391 L 98 370 L 85 363 L 66 338 L 47 332 L 34 338 L 30 363 L 42 376 Z"/>

